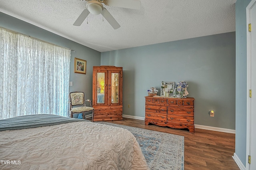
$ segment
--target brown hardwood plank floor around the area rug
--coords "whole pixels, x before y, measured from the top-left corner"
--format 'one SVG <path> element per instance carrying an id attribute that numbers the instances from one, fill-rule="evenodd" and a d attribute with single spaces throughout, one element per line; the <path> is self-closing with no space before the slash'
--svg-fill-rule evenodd
<path id="1" fill-rule="evenodd" d="M 184 136 L 185 170 L 239 170 L 232 158 L 235 152 L 235 134 L 199 128 L 195 128 L 193 134 L 187 130 L 146 126 L 142 120 L 128 118 L 111 123 Z"/>

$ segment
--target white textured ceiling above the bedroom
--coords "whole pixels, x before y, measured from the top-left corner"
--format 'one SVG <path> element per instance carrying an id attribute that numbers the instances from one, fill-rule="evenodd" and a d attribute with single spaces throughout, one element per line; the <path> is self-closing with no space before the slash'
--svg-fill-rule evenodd
<path id="1" fill-rule="evenodd" d="M 236 0 L 140 1 L 140 10 L 104 5 L 117 30 L 101 14 L 73 26 L 85 1 L 0 0 L 0 12 L 100 52 L 235 31 Z"/>

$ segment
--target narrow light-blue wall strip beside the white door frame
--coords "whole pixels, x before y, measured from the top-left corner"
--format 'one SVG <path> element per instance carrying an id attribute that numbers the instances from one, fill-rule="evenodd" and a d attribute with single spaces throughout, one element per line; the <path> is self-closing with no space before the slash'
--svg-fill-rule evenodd
<path id="1" fill-rule="evenodd" d="M 246 166 L 246 7 L 250 0 L 236 1 L 236 155 Z"/>

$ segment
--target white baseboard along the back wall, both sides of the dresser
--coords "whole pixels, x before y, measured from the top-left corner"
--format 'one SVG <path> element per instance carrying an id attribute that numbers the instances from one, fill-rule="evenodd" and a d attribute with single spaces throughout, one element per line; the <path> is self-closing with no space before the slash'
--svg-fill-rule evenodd
<path id="1" fill-rule="evenodd" d="M 130 119 L 138 119 L 138 120 L 145 120 L 145 117 L 138 117 L 138 116 L 130 116 L 130 115 L 123 115 L 123 117 L 130 118 Z M 236 130 L 228 129 L 228 128 L 218 128 L 218 127 L 208 127 L 204 125 L 195 125 L 195 128 L 201 128 L 205 130 L 214 130 L 218 132 L 226 132 L 226 133 L 236 133 Z"/>

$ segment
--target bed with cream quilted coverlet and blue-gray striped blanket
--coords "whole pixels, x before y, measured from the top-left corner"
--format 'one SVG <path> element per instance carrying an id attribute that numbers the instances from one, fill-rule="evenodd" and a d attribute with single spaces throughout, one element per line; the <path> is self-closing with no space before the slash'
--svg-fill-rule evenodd
<path id="1" fill-rule="evenodd" d="M 149 169 L 131 132 L 83 119 L 57 115 L 3 119 L 0 136 L 0 169 Z"/>

